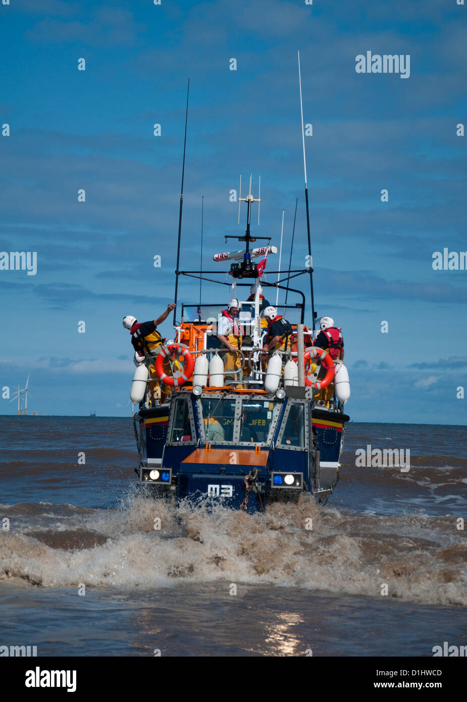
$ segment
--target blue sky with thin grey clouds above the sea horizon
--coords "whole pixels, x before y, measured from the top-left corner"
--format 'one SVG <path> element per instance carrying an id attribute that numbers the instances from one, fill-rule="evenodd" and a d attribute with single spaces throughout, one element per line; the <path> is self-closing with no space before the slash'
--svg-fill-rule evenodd
<path id="1" fill-rule="evenodd" d="M 299 49 L 315 306 L 343 329 L 348 412 L 466 423 L 456 388 L 467 385 L 467 271 L 432 267 L 434 251 L 467 249 L 456 135 L 467 122 L 466 12 L 454 0 L 0 5 L 0 126 L 11 130 L 0 136 L 0 251 L 39 256 L 35 276 L 0 270 L 0 388 L 30 373 L 39 413 L 129 414 L 121 319 L 154 319 L 173 299 L 188 78 L 180 267 L 199 262 L 203 195 L 204 267 L 239 233 L 229 192 L 240 173 L 261 175 L 255 231 L 277 246 L 285 209 L 287 261 L 298 197 L 293 265 L 303 266 Z M 409 54 L 410 77 L 357 74 L 366 51 Z M 179 293 L 196 302 L 197 283 L 180 278 Z M 204 284 L 205 300 L 219 294 Z M 169 322 L 163 331 L 172 336 Z M 0 399 L 0 413 L 14 412 Z"/>

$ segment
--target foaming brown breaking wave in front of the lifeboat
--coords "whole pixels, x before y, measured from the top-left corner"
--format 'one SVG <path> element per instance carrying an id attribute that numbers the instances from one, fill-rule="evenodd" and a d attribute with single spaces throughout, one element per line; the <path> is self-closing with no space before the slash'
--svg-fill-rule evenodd
<path id="1" fill-rule="evenodd" d="M 374 597 L 386 583 L 389 597 L 407 602 L 467 605 L 466 539 L 454 516 L 362 515 L 322 508 L 306 495 L 260 516 L 138 495 L 118 509 L 0 510 L 11 519 L 10 531 L 0 532 L 0 581 L 44 588 L 228 581 Z"/>

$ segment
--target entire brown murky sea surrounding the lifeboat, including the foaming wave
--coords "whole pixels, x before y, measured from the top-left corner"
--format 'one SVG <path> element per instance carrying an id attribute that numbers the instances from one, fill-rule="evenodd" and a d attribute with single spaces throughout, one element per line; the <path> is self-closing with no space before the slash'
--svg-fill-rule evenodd
<path id="1" fill-rule="evenodd" d="M 138 494 L 131 420 L 1 418 L 0 644 L 186 656 L 465 645 L 466 432 L 433 429 L 351 423 L 326 506 L 303 496 L 252 516 Z M 411 469 L 357 468 L 367 444 L 410 449 Z"/>

